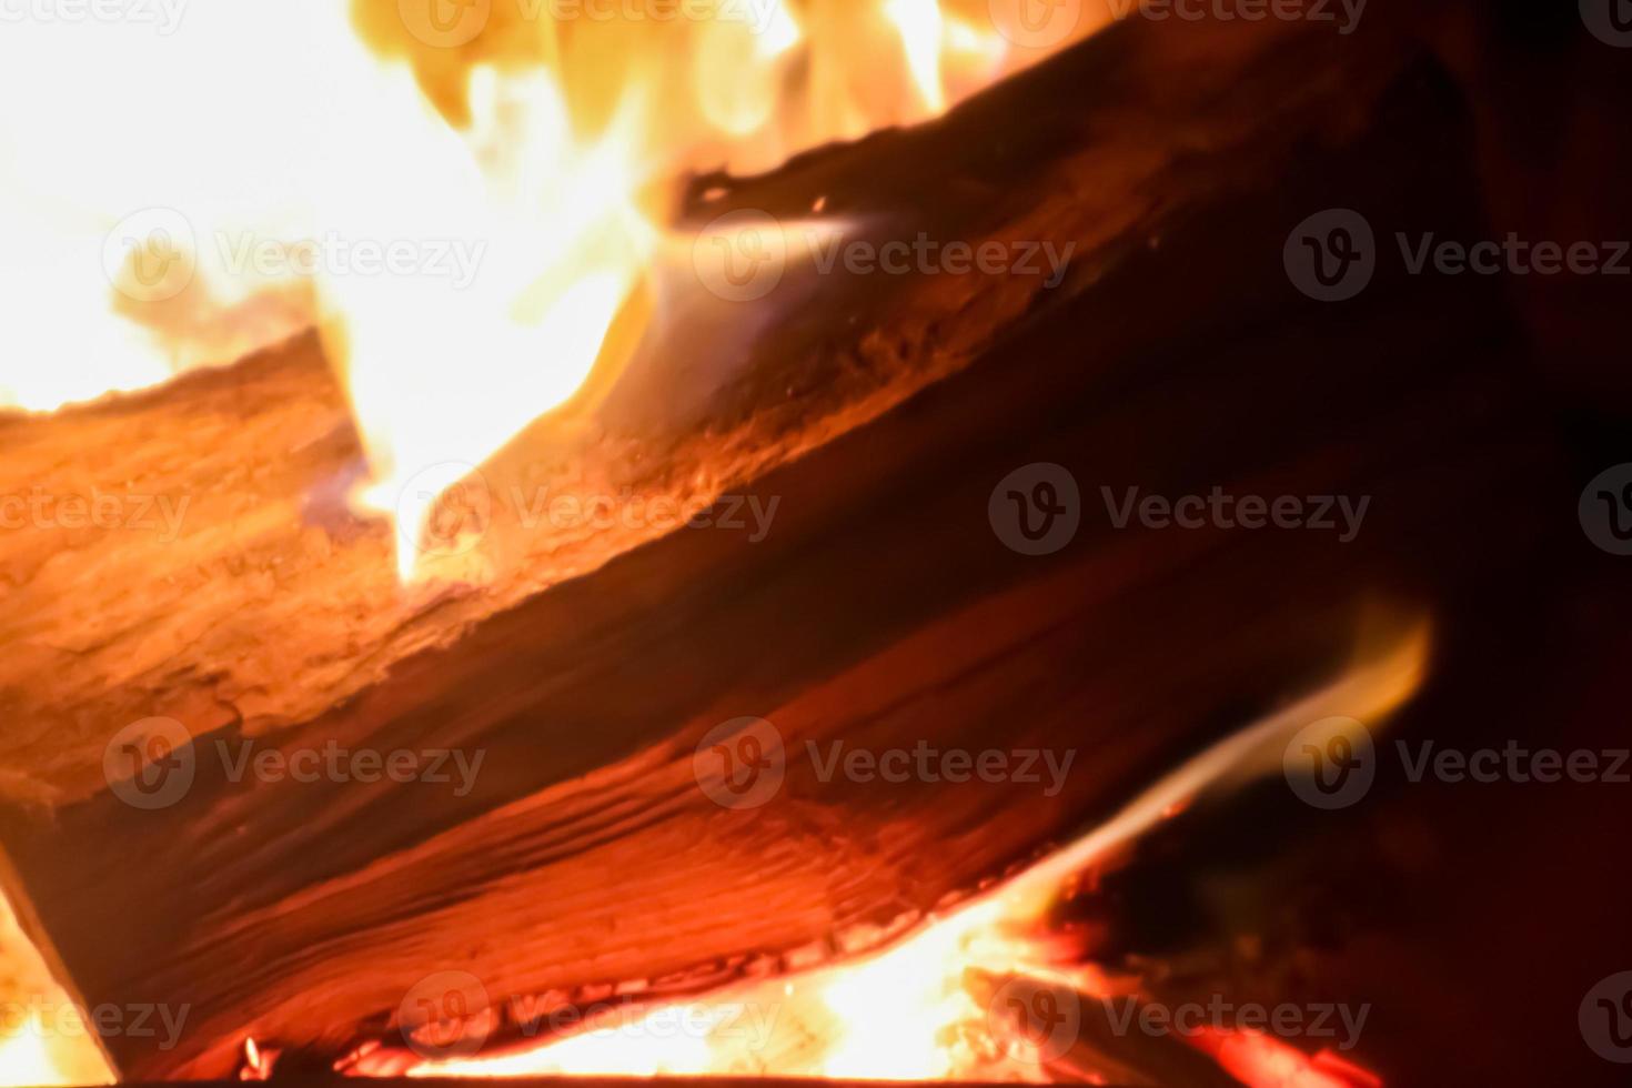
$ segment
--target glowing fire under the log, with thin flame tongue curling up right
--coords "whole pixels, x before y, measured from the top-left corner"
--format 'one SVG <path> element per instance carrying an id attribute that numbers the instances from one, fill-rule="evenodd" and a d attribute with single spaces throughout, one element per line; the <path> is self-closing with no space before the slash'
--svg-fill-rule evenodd
<path id="1" fill-rule="evenodd" d="M 1062 889 L 1195 798 L 1279 773 L 1307 723 L 1386 718 L 1417 690 L 1426 657 L 1426 626 L 1399 635 L 1328 687 L 1185 762 L 1069 847 L 860 959 L 728 985 L 694 1002 L 605 1008 L 581 1031 L 493 1054 L 437 1059 L 375 1049 L 343 1068 L 413 1077 L 1082 1078 L 1082 1065 L 1071 1065 L 1072 1033 L 1049 1029 L 1049 1016 L 1075 995 L 1131 1000 L 1139 984 L 1080 962 L 1072 943 L 1049 931 L 1046 913 Z M 483 1010 L 483 1037 L 493 1011 Z M 1359 1067 L 1304 1055 L 1262 1033 L 1211 1029 L 1188 1044 L 1257 1088 L 1376 1086 Z M 1056 1075 L 1056 1067 L 1067 1072 Z"/>

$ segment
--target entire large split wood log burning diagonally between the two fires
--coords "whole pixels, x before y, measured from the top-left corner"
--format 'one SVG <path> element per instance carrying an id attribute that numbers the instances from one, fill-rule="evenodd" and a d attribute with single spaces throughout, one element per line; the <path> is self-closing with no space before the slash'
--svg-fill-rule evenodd
<path id="1" fill-rule="evenodd" d="M 999 139 L 1017 116 L 1030 122 Z M 836 299 L 871 300 L 862 331 L 832 343 L 847 325 L 832 310 L 787 315 L 681 421 L 632 391 L 687 374 L 659 346 L 594 424 L 557 421 L 566 437 L 524 436 L 485 468 L 501 493 L 543 476 L 579 494 L 777 499 L 752 545 L 527 538 L 499 511 L 486 586 L 403 594 L 384 532 L 344 527 L 322 498 L 356 449 L 310 343 L 10 424 L 38 473 L 163 480 L 132 471 L 142 458 L 199 493 L 170 551 L 98 537 L 65 556 L 29 545 L 21 574 L 7 568 L 38 605 L 7 620 L 24 648 L 5 664 L 7 710 L 26 723 L 11 794 L 55 804 L 5 812 L 0 842 L 86 1000 L 191 1010 L 175 1049 L 108 1039 L 121 1072 L 227 1075 L 246 1036 L 333 1057 L 444 969 L 494 995 L 664 990 L 855 951 L 1340 669 L 1368 608 L 1431 610 L 1508 577 L 1534 522 L 1510 486 L 1557 465 L 1495 289 L 1379 274 L 1333 312 L 1281 268 L 1302 209 L 1355 192 L 1384 217 L 1470 230 L 1467 145 L 1446 135 L 1461 121 L 1384 21 L 1342 49 L 1129 24 L 937 126 L 731 186 L 710 212 L 863 207 L 868 188 L 966 171 L 978 184 L 945 186 L 948 222 L 981 212 L 963 235 L 1082 250 L 1054 295 L 840 282 Z M 162 421 L 149 460 L 129 439 Z M 211 427 L 261 445 L 215 449 Z M 289 455 L 266 460 L 271 436 Z M 1084 529 L 1046 558 L 1005 548 L 987 514 L 1035 462 L 1082 484 Z M 1120 530 L 1102 484 L 1371 496 L 1373 514 L 1346 545 Z M 1451 488 L 1475 515 L 1448 509 Z M 100 788 L 101 759 L 150 714 L 186 723 L 197 773 L 137 812 Z M 694 754 L 747 714 L 778 731 L 787 778 L 734 811 L 700 788 Z M 1071 749 L 1077 763 L 1054 794 L 824 780 L 808 745 L 834 741 Z M 215 755 L 330 744 L 459 749 L 483 770 L 460 796 L 233 781 Z"/>

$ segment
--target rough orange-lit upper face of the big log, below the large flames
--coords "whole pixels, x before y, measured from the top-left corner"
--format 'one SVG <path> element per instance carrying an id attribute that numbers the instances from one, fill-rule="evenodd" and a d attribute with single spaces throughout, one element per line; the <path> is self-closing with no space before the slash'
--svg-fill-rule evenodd
<path id="1" fill-rule="evenodd" d="M 749 184 L 702 179 L 687 222 L 747 206 L 792 219 L 826 197 L 832 215 L 896 214 L 902 237 L 1069 243 L 1071 279 L 1046 292 L 1038 276 L 829 276 L 816 307 L 798 269 L 757 308 L 676 292 L 677 313 L 602 403 L 540 421 L 485 467 L 494 511 L 473 584 L 401 587 L 390 529 L 348 511 L 361 450 L 312 338 L 0 419 L 0 498 L 47 502 L 0 532 L 0 713 L 13 723 L 0 796 L 49 806 L 101 789 L 111 723 L 162 714 L 264 736 L 307 721 L 672 524 L 623 524 L 632 501 L 695 509 L 958 370 L 1213 189 L 1284 168 L 1299 134 L 1342 132 L 1400 64 L 1381 28 L 1363 47 L 1286 38 L 1299 36 L 1116 28 L 937 124 Z M 1255 86 L 1242 78 L 1253 64 L 1279 75 Z M 524 524 L 545 488 L 612 524 Z M 103 496 L 118 504 L 108 522 L 86 511 Z"/>

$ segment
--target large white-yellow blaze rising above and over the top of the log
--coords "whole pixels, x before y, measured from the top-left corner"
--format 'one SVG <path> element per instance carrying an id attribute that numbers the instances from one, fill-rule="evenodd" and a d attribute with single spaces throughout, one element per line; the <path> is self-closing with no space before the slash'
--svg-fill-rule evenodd
<path id="1" fill-rule="evenodd" d="M 934 117 L 1090 29 L 945 2 L 31 10 L 0 38 L 0 406 L 317 326 L 410 577 L 436 496 L 640 333 L 672 181 Z"/>

